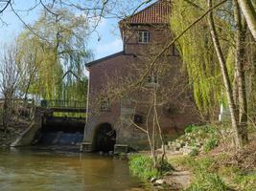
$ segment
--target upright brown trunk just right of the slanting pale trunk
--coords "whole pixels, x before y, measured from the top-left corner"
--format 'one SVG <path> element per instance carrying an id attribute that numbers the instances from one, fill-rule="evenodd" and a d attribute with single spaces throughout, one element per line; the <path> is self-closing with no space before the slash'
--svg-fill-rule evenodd
<path id="1" fill-rule="evenodd" d="M 239 133 L 241 134 L 243 144 L 247 143 L 247 98 L 245 90 L 245 34 L 246 24 L 243 25 L 243 15 L 237 0 L 234 0 L 234 17 L 236 25 L 236 58 L 235 73 L 237 74 L 238 97 L 239 97 Z M 245 20 L 244 20 L 245 23 Z"/>

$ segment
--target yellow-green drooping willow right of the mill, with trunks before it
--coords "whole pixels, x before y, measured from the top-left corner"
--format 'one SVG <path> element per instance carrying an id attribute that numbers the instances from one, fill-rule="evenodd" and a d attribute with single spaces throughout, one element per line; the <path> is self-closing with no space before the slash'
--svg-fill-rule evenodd
<path id="1" fill-rule="evenodd" d="M 176 1 L 172 31 L 182 32 L 213 6 L 211 1 Z M 247 142 L 248 97 L 255 94 L 255 58 L 251 59 L 255 53 L 251 44 L 255 43 L 246 28 L 238 1 L 226 1 L 220 10 L 210 12 L 208 19 L 201 20 L 178 40 L 198 107 L 208 111 L 212 104 L 227 103 L 237 148 Z"/>

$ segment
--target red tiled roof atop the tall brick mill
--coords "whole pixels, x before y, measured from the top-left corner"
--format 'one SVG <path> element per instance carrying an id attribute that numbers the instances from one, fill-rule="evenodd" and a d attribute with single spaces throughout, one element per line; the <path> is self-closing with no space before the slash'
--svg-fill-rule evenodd
<path id="1" fill-rule="evenodd" d="M 123 19 L 120 24 L 167 24 L 171 13 L 170 0 L 158 0 L 148 8 Z"/>

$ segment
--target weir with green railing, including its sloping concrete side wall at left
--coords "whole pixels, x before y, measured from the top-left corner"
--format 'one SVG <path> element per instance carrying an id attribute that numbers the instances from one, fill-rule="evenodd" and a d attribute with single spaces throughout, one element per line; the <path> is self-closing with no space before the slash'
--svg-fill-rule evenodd
<path id="1" fill-rule="evenodd" d="M 84 105 L 81 101 L 42 100 L 35 108 L 33 123 L 11 146 L 78 145 L 85 126 L 85 117 L 81 117 L 86 113 Z"/>

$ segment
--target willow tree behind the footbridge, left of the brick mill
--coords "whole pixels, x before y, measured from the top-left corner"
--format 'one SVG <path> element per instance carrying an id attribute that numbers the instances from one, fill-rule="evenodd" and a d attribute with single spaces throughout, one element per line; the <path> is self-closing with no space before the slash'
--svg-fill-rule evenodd
<path id="1" fill-rule="evenodd" d="M 84 99 L 84 62 L 90 57 L 86 18 L 62 9 L 42 11 L 31 29 L 18 37 L 20 56 L 32 53 L 38 65 L 29 92 L 47 99 Z"/>

